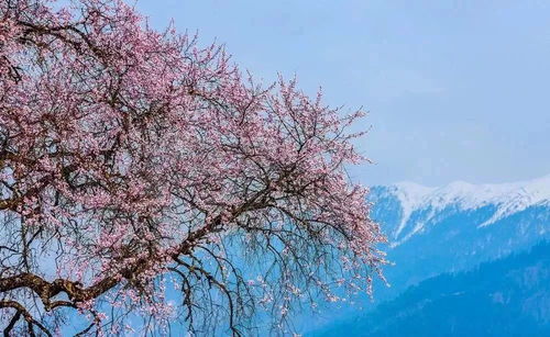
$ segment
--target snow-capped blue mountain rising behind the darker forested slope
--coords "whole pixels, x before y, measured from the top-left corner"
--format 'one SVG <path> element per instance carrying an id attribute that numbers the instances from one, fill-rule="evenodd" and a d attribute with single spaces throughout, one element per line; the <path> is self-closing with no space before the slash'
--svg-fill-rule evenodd
<path id="1" fill-rule="evenodd" d="M 473 268 L 550 238 L 550 175 L 503 184 L 411 182 L 374 187 L 372 217 L 389 239 L 398 289 Z M 396 291 L 396 290 L 394 290 Z"/>

